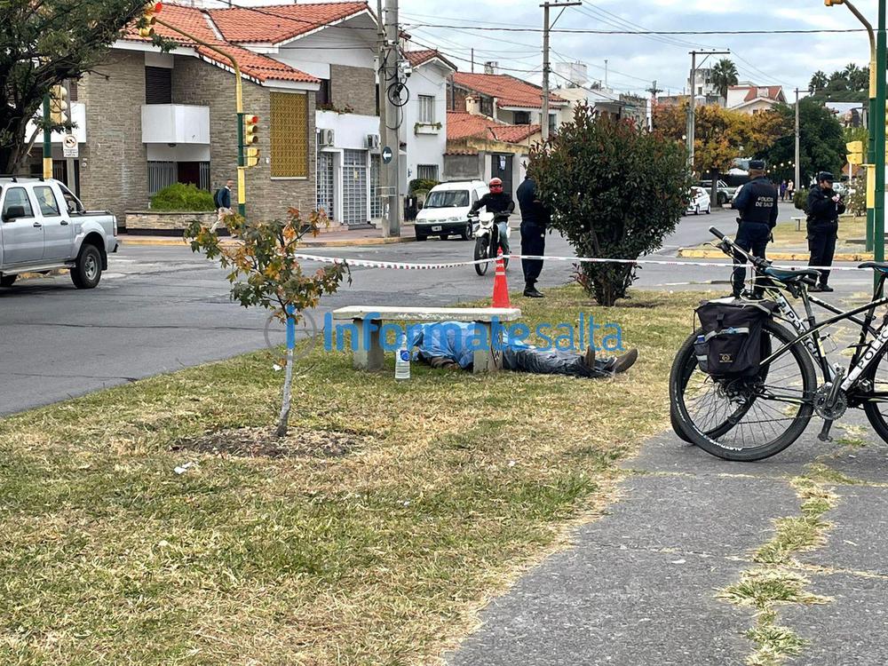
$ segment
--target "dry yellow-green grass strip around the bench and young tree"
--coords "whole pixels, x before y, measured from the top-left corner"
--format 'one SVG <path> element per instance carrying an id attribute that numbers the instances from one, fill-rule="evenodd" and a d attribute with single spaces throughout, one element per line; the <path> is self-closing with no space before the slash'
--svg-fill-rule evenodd
<path id="1" fill-rule="evenodd" d="M 0 421 L 0 662 L 433 662 L 668 427 L 699 298 L 520 302 L 619 323 L 641 360 L 615 380 L 396 383 L 392 358 L 316 351 L 273 449 L 253 436 L 278 408 L 265 352 Z"/>

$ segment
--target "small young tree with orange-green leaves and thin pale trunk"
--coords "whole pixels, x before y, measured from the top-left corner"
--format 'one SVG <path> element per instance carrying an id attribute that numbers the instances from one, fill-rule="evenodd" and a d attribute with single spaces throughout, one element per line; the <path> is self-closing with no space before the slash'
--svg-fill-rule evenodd
<path id="1" fill-rule="evenodd" d="M 313 211 L 308 221 L 299 211 L 287 211 L 281 222 L 247 222 L 239 215 L 229 215 L 226 227 L 241 242 L 221 242 L 218 234 L 194 221 L 186 231 L 193 252 L 202 252 L 209 259 L 218 259 L 228 271 L 232 300 L 243 307 L 257 305 L 271 311 L 280 321 L 305 317 L 305 310 L 320 303 L 324 294 L 333 294 L 346 277 L 352 277 L 345 264 L 329 264 L 313 274 L 305 274 L 296 258 L 299 241 L 305 234 L 317 235 L 327 223 L 322 212 Z M 293 350 L 287 349 L 281 416 L 276 434 L 287 434 L 290 396 L 293 383 Z"/>

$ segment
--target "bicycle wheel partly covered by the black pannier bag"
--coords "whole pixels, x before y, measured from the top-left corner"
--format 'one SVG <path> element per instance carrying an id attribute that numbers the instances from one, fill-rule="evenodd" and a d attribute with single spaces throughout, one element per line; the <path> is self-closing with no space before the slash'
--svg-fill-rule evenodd
<path id="1" fill-rule="evenodd" d="M 773 350 L 796 337 L 773 321 L 765 322 L 762 335 L 765 348 Z M 754 377 L 715 378 L 696 366 L 689 373 L 673 372 L 670 413 L 686 439 L 707 453 L 725 460 L 763 460 L 805 432 L 816 388 L 811 356 L 797 343 Z"/>

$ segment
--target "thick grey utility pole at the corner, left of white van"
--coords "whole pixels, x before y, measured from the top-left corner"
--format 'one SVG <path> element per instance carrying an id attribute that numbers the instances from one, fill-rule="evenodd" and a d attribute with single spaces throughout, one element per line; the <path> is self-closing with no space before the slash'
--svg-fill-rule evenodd
<path id="1" fill-rule="evenodd" d="M 383 235 L 400 236 L 400 139 L 399 128 L 402 119 L 400 104 L 400 35 L 398 32 L 398 0 L 385 0 L 385 39 L 383 40 L 383 65 L 379 68 L 380 96 L 380 185 L 385 172 L 385 217 Z M 382 107 L 385 106 L 385 115 Z"/>

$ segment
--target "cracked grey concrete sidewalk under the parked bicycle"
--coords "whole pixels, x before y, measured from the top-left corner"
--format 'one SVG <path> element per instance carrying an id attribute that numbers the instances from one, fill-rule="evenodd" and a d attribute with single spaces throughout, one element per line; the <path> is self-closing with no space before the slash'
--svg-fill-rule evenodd
<path id="1" fill-rule="evenodd" d="M 718 591 L 763 567 L 752 555 L 776 520 L 802 515 L 790 485 L 802 477 L 837 498 L 823 517 L 826 543 L 780 567 L 823 598 L 775 607 L 776 624 L 806 641 L 792 663 L 888 662 L 888 448 L 868 426 L 860 435 L 864 422 L 857 411 L 840 422 L 852 425 L 843 446 L 817 441 L 813 419 L 802 439 L 755 464 L 709 456 L 671 432 L 648 442 L 625 465 L 622 499 L 607 516 L 494 600 L 448 662 L 747 663 L 756 608 Z"/>

